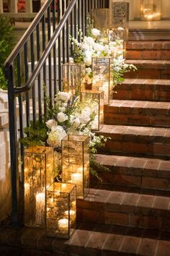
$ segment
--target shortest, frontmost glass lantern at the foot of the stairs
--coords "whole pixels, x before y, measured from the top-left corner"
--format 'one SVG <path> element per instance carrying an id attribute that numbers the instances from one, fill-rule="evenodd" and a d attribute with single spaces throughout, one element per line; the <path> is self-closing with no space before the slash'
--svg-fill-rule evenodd
<path id="1" fill-rule="evenodd" d="M 76 185 L 54 182 L 46 193 L 46 235 L 68 239 L 76 229 Z"/>

